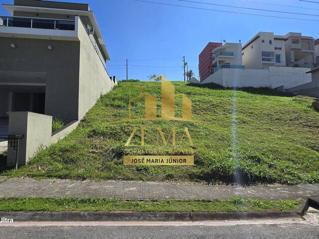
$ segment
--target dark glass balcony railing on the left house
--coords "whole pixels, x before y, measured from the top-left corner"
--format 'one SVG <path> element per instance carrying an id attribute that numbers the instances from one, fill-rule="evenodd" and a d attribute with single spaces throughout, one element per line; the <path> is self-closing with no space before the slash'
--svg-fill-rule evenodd
<path id="1" fill-rule="evenodd" d="M 75 21 L 37 17 L 0 16 L 0 26 L 74 31 Z"/>

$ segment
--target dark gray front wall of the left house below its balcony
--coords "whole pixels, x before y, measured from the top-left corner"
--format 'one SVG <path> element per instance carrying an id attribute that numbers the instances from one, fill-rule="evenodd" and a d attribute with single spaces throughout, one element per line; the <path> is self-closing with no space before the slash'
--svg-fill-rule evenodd
<path id="1" fill-rule="evenodd" d="M 16 48 L 10 47 L 12 42 Z M 78 119 L 79 41 L 0 37 L 0 52 L 0 71 L 46 73 L 46 115 L 67 122 Z M 19 82 L 27 83 L 23 76 Z"/>

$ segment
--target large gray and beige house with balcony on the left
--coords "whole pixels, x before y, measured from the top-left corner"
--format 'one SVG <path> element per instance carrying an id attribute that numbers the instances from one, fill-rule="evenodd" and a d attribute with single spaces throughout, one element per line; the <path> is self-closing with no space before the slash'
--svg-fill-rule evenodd
<path id="1" fill-rule="evenodd" d="M 116 84 L 88 4 L 14 0 L 0 17 L 0 117 L 28 111 L 82 119 Z"/>

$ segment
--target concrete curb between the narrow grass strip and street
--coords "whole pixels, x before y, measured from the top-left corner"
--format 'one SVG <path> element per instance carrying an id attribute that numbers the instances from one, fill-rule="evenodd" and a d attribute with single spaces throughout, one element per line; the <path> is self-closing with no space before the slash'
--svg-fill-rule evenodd
<path id="1" fill-rule="evenodd" d="M 317 201 L 318 200 L 318 201 Z M 0 218 L 25 221 L 215 221 L 274 219 L 302 216 L 319 199 L 307 199 L 295 211 L 280 212 L 0 212 Z"/>

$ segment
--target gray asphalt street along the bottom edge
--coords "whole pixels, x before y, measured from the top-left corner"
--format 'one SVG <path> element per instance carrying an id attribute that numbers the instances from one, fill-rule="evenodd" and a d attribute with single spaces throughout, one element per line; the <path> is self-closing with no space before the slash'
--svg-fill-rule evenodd
<path id="1" fill-rule="evenodd" d="M 319 214 L 263 221 L 69 222 L 1 227 L 1 239 L 318 239 Z M 56 225 L 59 224 L 59 225 Z"/>

